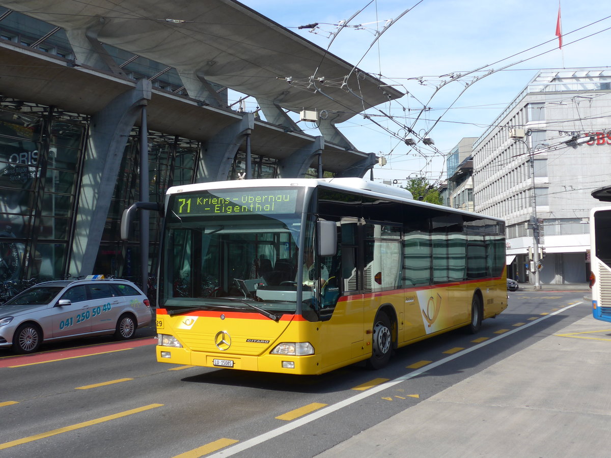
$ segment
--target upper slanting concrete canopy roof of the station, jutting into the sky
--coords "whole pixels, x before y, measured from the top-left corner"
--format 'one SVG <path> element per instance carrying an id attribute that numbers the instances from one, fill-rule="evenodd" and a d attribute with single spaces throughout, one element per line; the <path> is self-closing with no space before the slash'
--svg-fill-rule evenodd
<path id="1" fill-rule="evenodd" d="M 0 0 L 62 27 L 293 112 L 343 122 L 403 96 L 233 0 Z M 348 78 L 349 76 L 349 78 Z M 312 78 L 313 77 L 313 78 Z"/>

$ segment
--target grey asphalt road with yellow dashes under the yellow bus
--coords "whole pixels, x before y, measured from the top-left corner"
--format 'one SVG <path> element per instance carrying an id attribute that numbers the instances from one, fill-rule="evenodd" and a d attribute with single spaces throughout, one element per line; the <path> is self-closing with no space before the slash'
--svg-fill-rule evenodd
<path id="1" fill-rule="evenodd" d="M 519 291 L 477 335 L 405 347 L 387 368 L 316 377 L 157 363 L 139 339 L 0 351 L 0 456 L 312 457 L 590 313 L 583 293 Z M 558 313 L 558 310 L 560 313 Z M 494 387 L 490 387 L 494 390 Z"/>

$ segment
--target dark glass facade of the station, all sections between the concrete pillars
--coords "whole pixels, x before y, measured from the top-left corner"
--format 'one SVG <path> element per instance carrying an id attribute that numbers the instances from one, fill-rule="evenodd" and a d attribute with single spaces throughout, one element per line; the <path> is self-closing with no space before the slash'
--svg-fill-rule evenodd
<path id="1" fill-rule="evenodd" d="M 0 102 L 0 282 L 68 276 L 79 211 L 89 118 L 52 107 L 3 98 Z M 148 132 L 148 193 L 163 202 L 170 186 L 194 181 L 202 145 L 197 140 Z M 228 180 L 246 172 L 238 151 Z M 253 178 L 276 178 L 277 160 L 252 154 Z M 140 200 L 140 132 L 128 138 L 114 186 L 93 274 L 139 282 L 140 227 L 120 239 L 125 208 Z M 156 271 L 161 219 L 149 212 L 148 271 Z"/>

